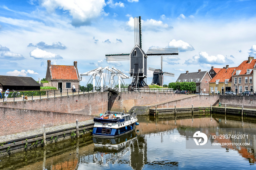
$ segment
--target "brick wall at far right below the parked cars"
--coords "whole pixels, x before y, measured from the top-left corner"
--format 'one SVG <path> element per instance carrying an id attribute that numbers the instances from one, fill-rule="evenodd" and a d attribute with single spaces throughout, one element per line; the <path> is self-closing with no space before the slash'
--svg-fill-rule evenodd
<path id="1" fill-rule="evenodd" d="M 227 107 L 242 107 L 244 108 L 256 108 L 256 96 L 227 96 L 221 95 L 219 96 L 219 101 L 222 106 Z"/>

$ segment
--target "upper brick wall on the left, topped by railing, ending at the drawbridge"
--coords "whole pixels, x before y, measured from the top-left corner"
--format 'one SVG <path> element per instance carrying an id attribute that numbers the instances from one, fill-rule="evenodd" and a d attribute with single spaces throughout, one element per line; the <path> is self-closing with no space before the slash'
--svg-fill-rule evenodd
<path id="1" fill-rule="evenodd" d="M 85 93 L 74 96 L 1 102 L 0 107 L 38 111 L 99 115 L 108 110 L 108 93 Z"/>

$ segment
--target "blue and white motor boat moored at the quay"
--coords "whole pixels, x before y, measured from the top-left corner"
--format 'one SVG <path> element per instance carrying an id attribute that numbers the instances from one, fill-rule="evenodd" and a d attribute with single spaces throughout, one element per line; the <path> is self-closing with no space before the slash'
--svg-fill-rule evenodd
<path id="1" fill-rule="evenodd" d="M 134 130 L 139 125 L 136 113 L 106 111 L 93 119 L 93 136 L 116 137 Z"/>

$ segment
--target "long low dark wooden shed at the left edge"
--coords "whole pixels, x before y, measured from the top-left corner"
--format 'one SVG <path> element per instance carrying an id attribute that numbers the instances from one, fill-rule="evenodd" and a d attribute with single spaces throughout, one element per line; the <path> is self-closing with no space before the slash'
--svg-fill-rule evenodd
<path id="1" fill-rule="evenodd" d="M 0 76 L 0 87 L 3 91 L 12 90 L 40 90 L 40 84 L 32 77 Z"/>

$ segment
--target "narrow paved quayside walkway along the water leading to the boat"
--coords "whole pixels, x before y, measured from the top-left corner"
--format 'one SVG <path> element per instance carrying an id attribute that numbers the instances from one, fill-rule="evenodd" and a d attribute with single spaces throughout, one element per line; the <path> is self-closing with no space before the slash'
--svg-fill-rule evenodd
<path id="1" fill-rule="evenodd" d="M 93 119 L 80 121 L 80 122 L 78 122 L 78 125 L 80 126 L 80 125 L 85 125 L 85 124 L 89 124 L 89 123 L 93 123 Z M 45 130 L 47 133 L 47 132 L 72 128 L 75 126 L 76 126 L 76 122 L 69 123 L 69 124 L 63 124 L 63 125 L 59 125 L 59 126 L 46 127 Z M 27 131 L 27 132 L 21 132 L 21 133 L 6 135 L 6 136 L 0 136 L 0 143 L 10 141 L 10 140 L 19 139 L 19 138 L 26 138 L 26 137 L 33 136 L 33 135 L 39 135 L 42 133 L 43 133 L 43 128 L 41 127 L 41 128 L 38 128 L 37 130 L 33 130 L 33 131 Z"/>

